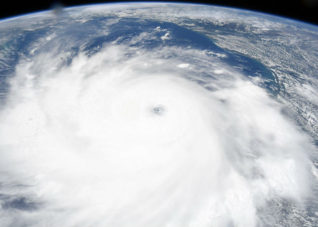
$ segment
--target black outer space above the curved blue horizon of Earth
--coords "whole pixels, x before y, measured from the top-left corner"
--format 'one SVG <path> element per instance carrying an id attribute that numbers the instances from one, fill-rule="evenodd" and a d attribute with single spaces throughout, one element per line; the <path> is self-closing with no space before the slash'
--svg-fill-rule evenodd
<path id="1" fill-rule="evenodd" d="M 3 2 L 0 6 L 0 19 L 23 15 L 26 13 L 38 12 L 42 10 L 49 10 L 55 5 L 63 5 L 64 7 L 88 5 L 88 4 L 101 4 L 112 2 L 136 2 L 136 1 L 42 1 L 42 2 L 29 2 L 29 1 L 8 1 Z M 143 1 L 138 1 L 143 2 Z M 149 1 L 145 1 L 149 2 Z M 318 12 L 318 0 L 215 0 L 215 1 L 165 1 L 165 2 L 186 2 L 186 3 L 201 3 L 211 4 L 226 7 L 235 7 L 259 11 L 263 13 L 270 13 L 274 15 L 284 16 L 295 20 L 300 20 L 317 25 L 316 14 Z"/>

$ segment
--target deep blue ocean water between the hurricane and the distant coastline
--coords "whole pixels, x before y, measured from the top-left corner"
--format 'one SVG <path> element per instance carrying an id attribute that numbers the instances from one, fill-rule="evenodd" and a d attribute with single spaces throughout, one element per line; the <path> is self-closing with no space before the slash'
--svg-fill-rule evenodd
<path id="1" fill-rule="evenodd" d="M 116 23 L 107 25 L 107 22 L 112 21 L 114 17 L 92 17 L 84 23 L 79 22 L 69 22 L 67 20 L 59 20 L 54 22 L 46 21 L 44 26 L 41 25 L 40 28 L 34 31 L 25 30 L 15 30 L 11 32 L 16 32 L 17 35 L 14 38 L 3 45 L 1 45 L 2 51 L 7 51 L 9 56 L 7 59 L 10 60 L 10 64 L 6 64 L 6 67 L 2 65 L 0 67 L 0 78 L 1 85 L 0 90 L 2 93 L 7 93 L 8 84 L 7 79 L 15 72 L 15 66 L 19 62 L 21 54 L 26 57 L 32 58 L 30 50 L 33 45 L 35 45 L 40 38 L 45 37 L 47 34 L 54 32 L 56 36 L 52 40 L 47 40 L 41 43 L 40 48 L 35 50 L 35 53 L 40 51 L 47 51 L 52 46 L 55 46 L 57 41 L 59 43 L 57 48 L 61 52 L 68 51 L 71 52 L 70 56 L 65 59 L 65 64 L 71 64 L 72 58 L 78 54 L 80 51 L 80 46 L 85 44 L 83 51 L 87 55 L 92 55 L 100 50 L 100 48 L 108 43 L 117 40 L 117 43 L 127 44 L 130 43 L 131 46 L 138 48 L 143 48 L 147 50 L 155 49 L 162 45 L 165 46 L 178 46 L 178 47 L 191 47 L 198 50 L 206 50 L 206 52 L 212 51 L 218 54 L 224 54 L 226 58 L 222 58 L 222 62 L 235 68 L 242 75 L 249 77 L 260 77 L 262 80 L 260 86 L 266 88 L 272 95 L 276 96 L 278 92 L 278 83 L 276 82 L 275 75 L 263 66 L 261 63 L 254 59 L 249 58 L 246 55 L 223 49 L 216 45 L 210 38 L 199 34 L 190 29 L 178 26 L 174 23 L 145 20 L 139 18 L 125 18 L 121 19 Z M 47 26 L 45 26 L 47 24 Z M 105 27 L 107 26 L 107 27 Z M 156 39 L 143 39 L 141 41 L 136 41 L 131 44 L 131 40 L 144 32 L 153 32 L 153 30 L 160 26 L 160 31 L 152 33 L 152 35 L 157 36 Z M 107 28 L 107 35 L 101 35 L 102 30 Z M 213 26 L 210 26 L 213 29 Z M 169 31 L 170 38 L 166 39 L 164 42 L 161 39 L 165 33 Z M 229 33 L 231 28 L 229 28 Z M 121 39 L 118 40 L 118 38 Z M 208 75 L 205 76 L 216 76 Z"/>

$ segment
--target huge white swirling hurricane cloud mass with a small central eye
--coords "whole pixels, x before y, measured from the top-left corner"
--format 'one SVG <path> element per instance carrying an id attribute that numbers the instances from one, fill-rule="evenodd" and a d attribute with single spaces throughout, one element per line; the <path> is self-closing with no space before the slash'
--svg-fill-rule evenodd
<path id="1" fill-rule="evenodd" d="M 313 148 L 284 105 L 206 51 L 131 45 L 149 37 L 21 56 L 0 113 L 2 226 L 262 226 L 275 201 L 305 209 Z"/>

